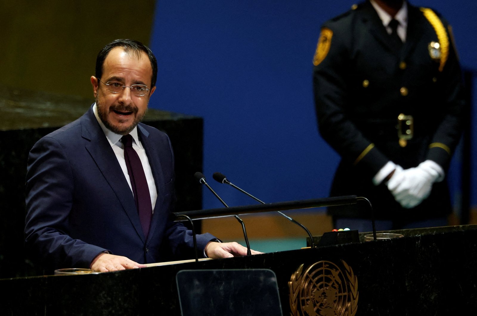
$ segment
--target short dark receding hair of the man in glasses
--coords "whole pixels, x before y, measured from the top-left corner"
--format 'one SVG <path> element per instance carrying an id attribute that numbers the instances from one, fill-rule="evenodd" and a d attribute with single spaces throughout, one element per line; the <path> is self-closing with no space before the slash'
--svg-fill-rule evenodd
<path id="1" fill-rule="evenodd" d="M 106 59 L 106 56 L 108 56 L 109 51 L 111 49 L 114 49 L 115 47 L 122 47 L 124 51 L 128 54 L 132 51 L 137 55 L 137 57 L 141 57 L 141 52 L 144 51 L 147 54 L 147 57 L 149 57 L 149 60 L 151 61 L 151 67 L 152 67 L 151 87 L 149 88 L 156 86 L 156 79 L 157 79 L 156 57 L 152 53 L 151 49 L 143 45 L 143 43 L 138 42 L 137 40 L 134 40 L 134 39 L 116 39 L 116 40 L 113 40 L 111 43 L 107 44 L 106 46 L 104 46 L 103 49 L 100 50 L 100 52 L 98 53 L 98 56 L 96 57 L 96 73 L 95 73 L 96 78 L 101 79 L 101 76 L 103 75 L 104 59 Z"/>

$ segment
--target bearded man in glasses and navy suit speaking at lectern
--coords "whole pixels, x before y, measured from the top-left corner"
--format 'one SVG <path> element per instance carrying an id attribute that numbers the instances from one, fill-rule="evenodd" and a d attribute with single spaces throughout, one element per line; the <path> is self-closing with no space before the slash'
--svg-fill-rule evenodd
<path id="1" fill-rule="evenodd" d="M 107 272 L 194 257 L 192 232 L 169 217 L 175 204 L 169 138 L 139 123 L 156 89 L 156 75 L 156 58 L 143 44 L 109 43 L 91 77 L 96 102 L 31 149 L 26 245 L 44 267 Z M 124 135 L 132 136 L 147 181 L 152 214 L 146 228 L 124 158 Z M 245 247 L 220 243 L 207 233 L 197 236 L 197 247 L 213 258 L 247 254 Z"/>

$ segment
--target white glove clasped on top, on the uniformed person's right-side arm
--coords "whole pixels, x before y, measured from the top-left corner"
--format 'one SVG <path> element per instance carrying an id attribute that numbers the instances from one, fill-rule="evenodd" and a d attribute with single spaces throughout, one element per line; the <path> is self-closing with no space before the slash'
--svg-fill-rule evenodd
<path id="1" fill-rule="evenodd" d="M 426 160 L 416 168 L 403 170 L 397 175 L 394 172 L 387 186 L 402 207 L 412 208 L 429 197 L 433 183 L 443 178 L 442 168 L 434 161 Z"/>

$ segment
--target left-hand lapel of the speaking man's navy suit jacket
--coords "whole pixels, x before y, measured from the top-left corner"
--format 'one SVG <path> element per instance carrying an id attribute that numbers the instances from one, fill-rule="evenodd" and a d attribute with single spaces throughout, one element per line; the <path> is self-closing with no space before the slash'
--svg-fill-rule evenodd
<path id="1" fill-rule="evenodd" d="M 145 241 L 144 233 L 139 221 L 134 196 L 131 188 L 124 178 L 123 170 L 117 161 L 113 148 L 109 144 L 103 130 L 98 124 L 93 113 L 93 108 L 83 116 L 81 120 L 82 136 L 90 142 L 85 148 L 94 159 L 106 181 L 113 189 L 127 216 L 131 220 L 136 233 Z"/>

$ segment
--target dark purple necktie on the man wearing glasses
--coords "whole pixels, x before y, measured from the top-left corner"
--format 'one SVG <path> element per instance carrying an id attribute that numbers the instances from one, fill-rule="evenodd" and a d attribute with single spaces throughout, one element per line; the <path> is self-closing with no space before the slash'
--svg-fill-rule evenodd
<path id="1" fill-rule="evenodd" d="M 151 196 L 149 195 L 149 187 L 147 186 L 146 176 L 144 174 L 141 159 L 133 148 L 133 137 L 131 135 L 124 135 L 121 138 L 124 144 L 124 160 L 126 161 L 127 173 L 131 180 L 131 187 L 133 188 L 136 208 L 139 213 L 139 220 L 143 227 L 144 235 L 147 239 L 149 233 L 149 225 L 151 224 L 152 206 Z"/>

